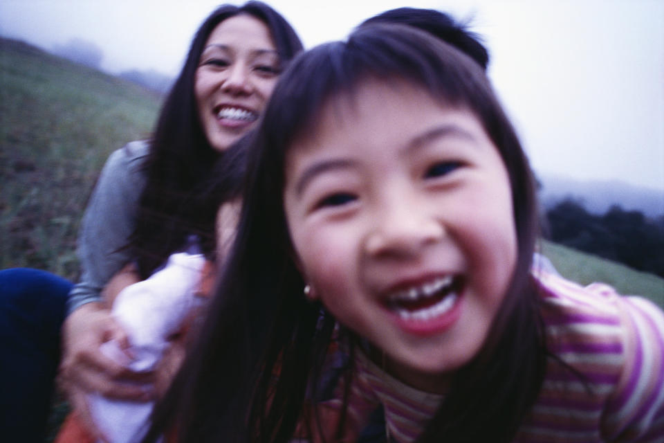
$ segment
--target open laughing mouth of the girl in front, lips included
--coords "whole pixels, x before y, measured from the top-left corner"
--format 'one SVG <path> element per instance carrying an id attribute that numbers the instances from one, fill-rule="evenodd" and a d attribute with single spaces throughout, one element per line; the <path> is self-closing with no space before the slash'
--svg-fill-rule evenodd
<path id="1" fill-rule="evenodd" d="M 458 318 L 462 291 L 461 276 L 445 275 L 392 293 L 386 306 L 407 332 L 429 335 L 447 329 Z"/>

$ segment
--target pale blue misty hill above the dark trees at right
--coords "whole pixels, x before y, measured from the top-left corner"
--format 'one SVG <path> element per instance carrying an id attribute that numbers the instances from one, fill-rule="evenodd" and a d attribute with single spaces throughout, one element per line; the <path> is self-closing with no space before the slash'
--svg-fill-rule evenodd
<path id="1" fill-rule="evenodd" d="M 664 191 L 639 188 L 617 180 L 579 181 L 539 175 L 537 178 L 542 183 L 540 200 L 546 208 L 571 197 L 594 214 L 604 214 L 611 206 L 618 205 L 624 210 L 638 210 L 647 217 L 664 217 Z"/>

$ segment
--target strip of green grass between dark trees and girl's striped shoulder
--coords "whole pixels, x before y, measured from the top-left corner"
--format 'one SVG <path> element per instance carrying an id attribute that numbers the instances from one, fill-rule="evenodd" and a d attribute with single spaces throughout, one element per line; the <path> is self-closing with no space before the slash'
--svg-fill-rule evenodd
<path id="1" fill-rule="evenodd" d="M 580 284 L 604 282 L 624 295 L 644 296 L 664 308 L 664 278 L 551 242 L 542 253 L 561 275 Z"/>

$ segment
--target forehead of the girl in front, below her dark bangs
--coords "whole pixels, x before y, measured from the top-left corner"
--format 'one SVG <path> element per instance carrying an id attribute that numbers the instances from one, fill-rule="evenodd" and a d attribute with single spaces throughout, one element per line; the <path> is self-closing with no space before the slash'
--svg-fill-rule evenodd
<path id="1" fill-rule="evenodd" d="M 384 157 L 443 133 L 491 145 L 468 108 L 452 106 L 405 81 L 366 80 L 330 96 L 309 118 L 288 147 L 287 164 L 299 163 L 303 156 Z"/>

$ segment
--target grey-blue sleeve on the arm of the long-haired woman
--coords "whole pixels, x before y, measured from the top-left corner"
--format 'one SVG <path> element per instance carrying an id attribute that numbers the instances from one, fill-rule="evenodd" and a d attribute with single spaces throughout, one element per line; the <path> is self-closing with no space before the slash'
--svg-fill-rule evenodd
<path id="1" fill-rule="evenodd" d="M 77 254 L 81 278 L 67 301 L 67 312 L 100 300 L 110 278 L 131 260 L 125 248 L 136 222 L 145 186 L 141 165 L 147 143 L 132 142 L 109 156 L 81 221 Z"/>

